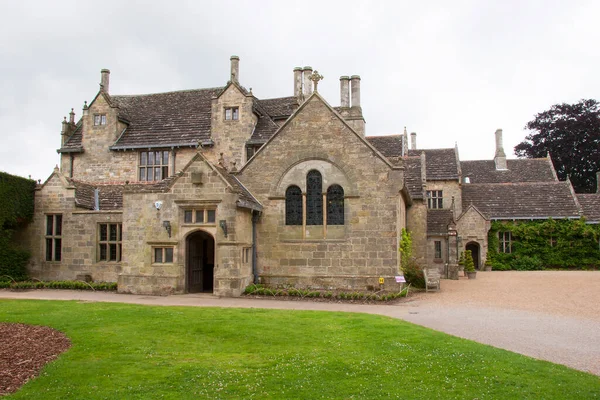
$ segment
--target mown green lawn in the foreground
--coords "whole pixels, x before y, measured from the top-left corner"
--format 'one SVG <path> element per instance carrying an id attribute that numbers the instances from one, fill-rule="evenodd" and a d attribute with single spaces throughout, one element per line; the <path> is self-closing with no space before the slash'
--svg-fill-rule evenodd
<path id="1" fill-rule="evenodd" d="M 597 376 L 366 314 L 0 300 L 73 347 L 7 399 L 593 399 Z"/>

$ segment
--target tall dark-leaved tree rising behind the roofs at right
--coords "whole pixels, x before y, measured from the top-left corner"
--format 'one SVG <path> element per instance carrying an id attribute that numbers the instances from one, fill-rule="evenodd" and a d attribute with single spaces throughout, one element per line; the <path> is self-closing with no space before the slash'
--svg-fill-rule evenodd
<path id="1" fill-rule="evenodd" d="M 552 157 L 559 179 L 570 176 L 577 193 L 596 191 L 600 171 L 600 103 L 555 104 L 525 125 L 535 131 L 515 146 L 518 157 Z"/>

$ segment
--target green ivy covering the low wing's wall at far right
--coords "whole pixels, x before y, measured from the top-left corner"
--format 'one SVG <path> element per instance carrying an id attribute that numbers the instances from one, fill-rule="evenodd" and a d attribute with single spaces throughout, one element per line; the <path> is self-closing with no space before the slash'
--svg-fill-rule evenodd
<path id="1" fill-rule="evenodd" d="M 499 252 L 498 232 L 511 232 L 512 252 Z M 600 267 L 600 225 L 585 219 L 494 221 L 488 252 L 496 270 Z"/>

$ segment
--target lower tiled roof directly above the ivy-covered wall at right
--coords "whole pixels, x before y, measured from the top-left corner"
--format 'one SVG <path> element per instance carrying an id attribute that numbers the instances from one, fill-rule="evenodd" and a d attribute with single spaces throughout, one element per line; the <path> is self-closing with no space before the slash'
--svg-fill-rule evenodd
<path id="1" fill-rule="evenodd" d="M 470 204 L 490 219 L 579 217 L 569 182 L 463 184 L 463 211 Z"/>

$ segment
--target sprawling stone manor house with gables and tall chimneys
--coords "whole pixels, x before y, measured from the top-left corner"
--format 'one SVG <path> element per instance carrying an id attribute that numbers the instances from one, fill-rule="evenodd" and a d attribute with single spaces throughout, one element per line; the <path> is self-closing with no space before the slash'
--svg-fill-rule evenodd
<path id="1" fill-rule="evenodd" d="M 483 265 L 492 220 L 600 219 L 549 157 L 507 160 L 501 130 L 493 159 L 460 161 L 457 148 L 419 149 L 406 129 L 366 136 L 357 75 L 340 77 L 339 106 L 310 67 L 294 69 L 283 98 L 258 99 L 239 76 L 233 56 L 222 87 L 114 95 L 102 70 L 36 189 L 32 276 L 139 294 L 368 290 L 380 278 L 394 289 L 402 228 L 445 275 L 464 249 Z"/>

